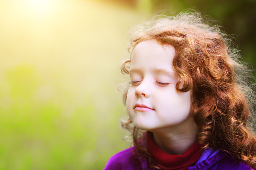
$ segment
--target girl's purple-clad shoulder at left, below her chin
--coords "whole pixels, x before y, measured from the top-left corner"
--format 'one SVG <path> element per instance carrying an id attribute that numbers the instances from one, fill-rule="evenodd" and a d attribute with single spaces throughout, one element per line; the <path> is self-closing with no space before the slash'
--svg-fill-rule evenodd
<path id="1" fill-rule="evenodd" d="M 104 170 L 132 170 L 132 169 L 141 169 L 140 159 L 138 159 L 134 153 L 134 146 L 127 148 L 121 152 L 113 155 L 104 168 Z"/>

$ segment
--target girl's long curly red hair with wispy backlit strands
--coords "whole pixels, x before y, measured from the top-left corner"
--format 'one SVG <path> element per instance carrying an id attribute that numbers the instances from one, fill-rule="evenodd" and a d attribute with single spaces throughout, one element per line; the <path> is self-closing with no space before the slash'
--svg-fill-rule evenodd
<path id="1" fill-rule="evenodd" d="M 210 26 L 199 13 L 156 16 L 130 31 L 128 51 L 131 53 L 145 40 L 172 45 L 175 48 L 172 67 L 180 80 L 176 90 L 191 90 L 190 111 L 199 128 L 196 141 L 204 149 L 221 149 L 255 169 L 255 78 L 220 28 Z M 130 60 L 126 60 L 121 71 L 129 74 L 129 69 Z M 124 105 L 128 88 L 124 90 Z M 122 127 L 130 130 L 136 152 L 148 160 L 148 166 L 160 169 L 147 148 L 137 140 L 144 131 L 137 129 L 131 119 L 123 121 Z"/>

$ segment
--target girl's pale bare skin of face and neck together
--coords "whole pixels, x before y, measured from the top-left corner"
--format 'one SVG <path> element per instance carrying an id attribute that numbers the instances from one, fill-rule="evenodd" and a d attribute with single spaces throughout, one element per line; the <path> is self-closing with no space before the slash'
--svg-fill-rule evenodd
<path id="1" fill-rule="evenodd" d="M 171 45 L 155 40 L 142 41 L 133 49 L 126 107 L 138 129 L 153 132 L 159 148 L 181 155 L 196 142 L 198 128 L 189 114 L 191 92 L 175 88 L 179 80 L 172 68 L 174 55 Z"/>

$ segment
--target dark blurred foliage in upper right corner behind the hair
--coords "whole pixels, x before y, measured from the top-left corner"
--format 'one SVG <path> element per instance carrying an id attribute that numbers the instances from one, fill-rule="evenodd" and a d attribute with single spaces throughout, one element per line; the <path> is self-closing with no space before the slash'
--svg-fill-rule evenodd
<path id="1" fill-rule="evenodd" d="M 203 16 L 208 16 L 220 21 L 223 31 L 231 34 L 233 41 L 241 50 L 245 61 L 256 69 L 256 1 L 255 0 L 227 0 L 227 1 L 189 1 L 189 0 L 152 0 L 154 9 L 158 11 L 171 9 L 174 13 L 188 8 L 200 11 Z"/>

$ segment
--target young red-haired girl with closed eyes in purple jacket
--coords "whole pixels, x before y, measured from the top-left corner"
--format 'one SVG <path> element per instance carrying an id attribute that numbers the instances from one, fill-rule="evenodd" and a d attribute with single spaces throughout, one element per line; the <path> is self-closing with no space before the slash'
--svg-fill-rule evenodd
<path id="1" fill-rule="evenodd" d="M 121 67 L 131 77 L 122 126 L 134 146 L 105 169 L 255 169 L 249 122 L 256 96 L 247 67 L 219 28 L 180 13 L 131 33 L 131 58 Z"/>

